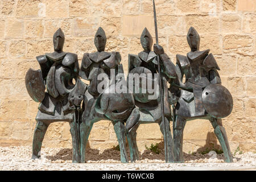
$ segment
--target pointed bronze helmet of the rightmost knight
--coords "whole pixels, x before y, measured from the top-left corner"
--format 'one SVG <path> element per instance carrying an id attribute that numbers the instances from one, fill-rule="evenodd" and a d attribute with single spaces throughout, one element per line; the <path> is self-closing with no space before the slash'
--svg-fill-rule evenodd
<path id="1" fill-rule="evenodd" d="M 199 51 L 200 47 L 200 36 L 197 33 L 196 29 L 193 27 L 190 27 L 188 30 L 187 40 L 189 47 L 191 48 L 191 51 Z"/>

